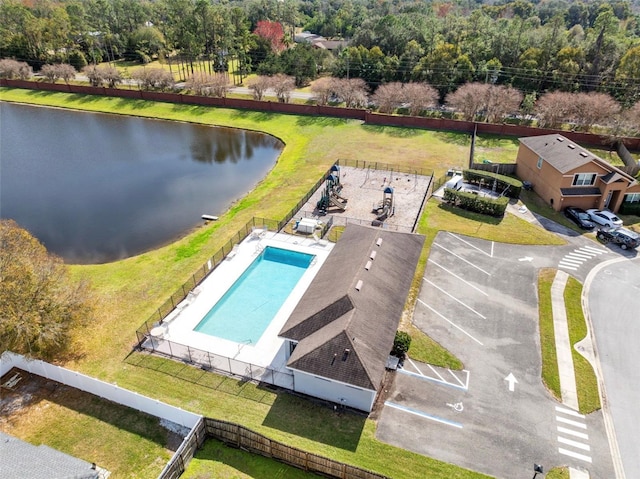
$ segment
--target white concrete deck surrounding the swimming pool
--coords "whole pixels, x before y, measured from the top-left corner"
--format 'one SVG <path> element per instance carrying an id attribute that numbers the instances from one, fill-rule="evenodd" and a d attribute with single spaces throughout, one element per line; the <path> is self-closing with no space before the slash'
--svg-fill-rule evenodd
<path id="1" fill-rule="evenodd" d="M 202 318 L 267 246 L 313 254 L 316 259 L 302 275 L 258 342 L 256 344 L 241 344 L 194 331 Z M 286 363 L 284 340 L 278 337 L 278 333 L 329 256 L 333 246 L 334 244 L 331 242 L 317 241 L 313 237 L 273 232 L 250 234 L 234 248 L 234 252 L 222 261 L 194 292 L 177 305 L 176 309 L 165 318 L 162 325 L 152 329 L 151 335 L 158 339 L 167 339 L 215 353 L 218 356 L 284 371 Z M 158 349 L 164 350 L 165 348 L 160 346 Z"/>

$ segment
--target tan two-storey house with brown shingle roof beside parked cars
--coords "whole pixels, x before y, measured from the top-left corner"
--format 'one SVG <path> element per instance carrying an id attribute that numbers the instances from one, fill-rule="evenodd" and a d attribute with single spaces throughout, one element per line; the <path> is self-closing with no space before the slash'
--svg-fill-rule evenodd
<path id="1" fill-rule="evenodd" d="M 516 174 L 556 211 L 608 208 L 640 201 L 640 184 L 624 171 L 562 135 L 520 138 Z"/>

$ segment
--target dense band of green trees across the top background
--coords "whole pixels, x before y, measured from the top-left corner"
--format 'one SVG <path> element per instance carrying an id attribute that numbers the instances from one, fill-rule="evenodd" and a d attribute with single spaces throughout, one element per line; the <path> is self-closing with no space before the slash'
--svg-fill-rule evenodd
<path id="1" fill-rule="evenodd" d="M 443 100 L 468 82 L 526 93 L 640 99 L 638 0 L 0 0 L 0 57 L 36 70 L 68 63 L 166 61 L 182 80 L 229 71 L 361 78 L 370 89 L 427 82 Z M 335 52 L 296 29 L 349 39 Z"/>

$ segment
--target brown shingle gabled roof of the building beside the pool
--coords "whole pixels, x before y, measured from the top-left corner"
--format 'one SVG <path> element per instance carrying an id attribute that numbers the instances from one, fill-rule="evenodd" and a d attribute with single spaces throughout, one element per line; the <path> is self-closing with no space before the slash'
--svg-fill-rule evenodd
<path id="1" fill-rule="evenodd" d="M 348 224 L 280 331 L 298 341 L 287 366 L 377 390 L 423 244 Z"/>

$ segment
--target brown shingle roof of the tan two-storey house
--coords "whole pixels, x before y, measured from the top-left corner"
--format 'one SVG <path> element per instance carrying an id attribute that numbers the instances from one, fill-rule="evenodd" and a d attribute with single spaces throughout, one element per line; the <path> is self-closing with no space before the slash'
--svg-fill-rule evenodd
<path id="1" fill-rule="evenodd" d="M 594 163 L 609 173 L 617 173 L 618 180 L 630 184 L 635 181 L 632 176 L 562 135 L 528 136 L 519 140 L 560 173 L 569 173 L 583 165 Z"/>

